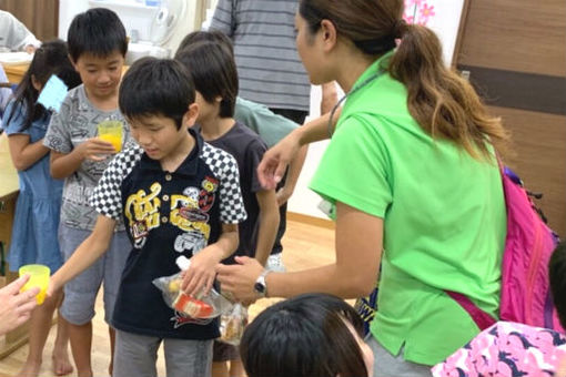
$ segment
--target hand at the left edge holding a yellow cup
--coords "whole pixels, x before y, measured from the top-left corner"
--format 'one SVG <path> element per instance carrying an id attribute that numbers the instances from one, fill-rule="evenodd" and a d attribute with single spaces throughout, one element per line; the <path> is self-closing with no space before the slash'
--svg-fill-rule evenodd
<path id="1" fill-rule="evenodd" d="M 31 316 L 38 305 L 36 296 L 39 287 L 20 293 L 30 276 L 24 275 L 0 289 L 0 335 L 3 335 L 23 324 Z"/>

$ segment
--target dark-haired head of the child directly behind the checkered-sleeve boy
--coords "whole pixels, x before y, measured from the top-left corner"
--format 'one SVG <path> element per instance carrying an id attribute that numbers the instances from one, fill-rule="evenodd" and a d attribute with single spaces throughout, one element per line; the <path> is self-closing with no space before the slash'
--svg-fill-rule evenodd
<path id="1" fill-rule="evenodd" d="M 234 115 L 237 96 L 237 70 L 234 57 L 218 42 L 200 41 L 186 45 L 175 54 L 189 70 L 194 86 L 209 103 L 220 102 L 220 118 Z"/>

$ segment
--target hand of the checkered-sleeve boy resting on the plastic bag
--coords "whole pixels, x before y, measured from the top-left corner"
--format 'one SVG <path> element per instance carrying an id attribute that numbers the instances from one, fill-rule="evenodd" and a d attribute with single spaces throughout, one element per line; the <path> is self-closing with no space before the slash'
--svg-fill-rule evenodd
<path id="1" fill-rule="evenodd" d="M 223 251 L 215 244 L 209 245 L 191 257 L 191 266 L 183 272 L 181 289 L 191 297 L 206 295 L 216 276 L 216 266 L 222 261 Z"/>

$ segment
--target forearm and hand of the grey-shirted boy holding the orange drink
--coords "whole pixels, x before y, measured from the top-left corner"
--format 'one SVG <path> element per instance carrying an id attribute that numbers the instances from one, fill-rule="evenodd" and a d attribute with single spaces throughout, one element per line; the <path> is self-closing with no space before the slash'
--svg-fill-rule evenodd
<path id="1" fill-rule="evenodd" d="M 115 153 L 111 143 L 98 137 L 88 139 L 70 153 L 51 152 L 51 176 L 65 179 L 81 166 L 84 160 L 103 161 Z"/>

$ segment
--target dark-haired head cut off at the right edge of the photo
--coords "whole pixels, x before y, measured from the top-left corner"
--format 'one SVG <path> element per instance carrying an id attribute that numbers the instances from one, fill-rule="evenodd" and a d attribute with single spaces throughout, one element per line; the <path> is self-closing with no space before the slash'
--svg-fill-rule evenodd
<path id="1" fill-rule="evenodd" d="M 550 256 L 548 275 L 554 306 L 558 312 L 562 327 L 566 328 L 566 242 L 558 244 Z"/>

